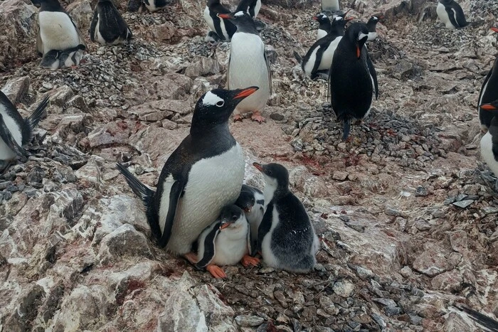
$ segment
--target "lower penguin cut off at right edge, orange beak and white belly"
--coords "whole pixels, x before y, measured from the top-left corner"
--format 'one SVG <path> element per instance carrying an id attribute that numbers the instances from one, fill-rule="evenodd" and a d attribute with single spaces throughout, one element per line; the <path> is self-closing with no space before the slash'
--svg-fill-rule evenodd
<path id="1" fill-rule="evenodd" d="M 480 108 L 493 115 L 489 130 L 481 139 L 481 156 L 498 178 L 498 100 L 483 104 Z"/>

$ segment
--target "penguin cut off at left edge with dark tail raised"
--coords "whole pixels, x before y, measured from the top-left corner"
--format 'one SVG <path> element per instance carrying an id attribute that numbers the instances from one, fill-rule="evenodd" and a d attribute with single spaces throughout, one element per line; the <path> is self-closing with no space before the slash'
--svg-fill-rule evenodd
<path id="1" fill-rule="evenodd" d="M 33 129 L 40 122 L 47 105 L 48 97 L 45 97 L 31 117 L 23 119 L 14 104 L 0 91 L 0 161 L 4 164 L 2 171 L 16 156 L 28 156 L 22 146 L 33 138 Z"/>

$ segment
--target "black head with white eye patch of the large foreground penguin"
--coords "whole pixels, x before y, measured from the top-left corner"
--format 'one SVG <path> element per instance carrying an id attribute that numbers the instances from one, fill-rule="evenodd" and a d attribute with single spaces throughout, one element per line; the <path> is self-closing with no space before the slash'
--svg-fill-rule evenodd
<path id="1" fill-rule="evenodd" d="M 246 87 L 245 89 L 215 89 L 206 92 L 196 104 L 191 128 L 198 125 L 228 123 L 228 119 L 238 103 L 258 89 L 259 87 Z"/>

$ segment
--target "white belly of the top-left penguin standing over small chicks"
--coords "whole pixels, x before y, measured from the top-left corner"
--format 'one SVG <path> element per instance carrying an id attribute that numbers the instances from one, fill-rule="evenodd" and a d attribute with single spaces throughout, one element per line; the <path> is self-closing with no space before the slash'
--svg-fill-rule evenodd
<path id="1" fill-rule="evenodd" d="M 80 36 L 68 14 L 60 11 L 38 13 L 43 54 L 49 50 L 66 50 L 80 44 Z"/>

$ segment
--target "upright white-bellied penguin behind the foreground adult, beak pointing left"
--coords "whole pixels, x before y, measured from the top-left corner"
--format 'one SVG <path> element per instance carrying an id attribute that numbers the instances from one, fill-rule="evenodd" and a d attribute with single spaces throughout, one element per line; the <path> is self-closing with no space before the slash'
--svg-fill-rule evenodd
<path id="1" fill-rule="evenodd" d="M 238 89 L 248 85 L 257 85 L 260 90 L 248 97 L 235 108 L 234 121 L 242 120 L 240 114 L 253 112 L 251 119 L 265 121 L 260 111 L 272 93 L 272 75 L 270 64 L 265 54 L 265 44 L 260 38 L 253 18 L 243 11 L 232 14 L 218 14 L 218 17 L 230 20 L 237 26 L 232 36 L 230 60 L 228 63 L 228 89 Z"/>

